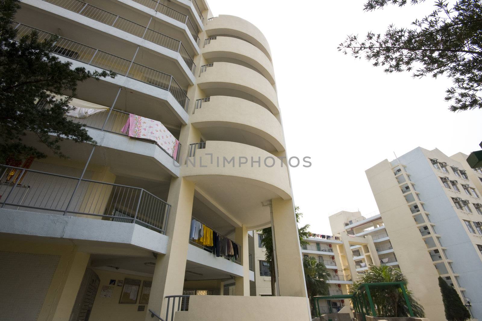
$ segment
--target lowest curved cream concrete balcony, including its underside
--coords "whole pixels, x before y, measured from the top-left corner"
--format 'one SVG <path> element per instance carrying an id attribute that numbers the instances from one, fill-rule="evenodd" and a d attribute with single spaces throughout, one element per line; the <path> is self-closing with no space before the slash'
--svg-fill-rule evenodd
<path id="1" fill-rule="evenodd" d="M 194 181 L 211 203 L 248 230 L 269 225 L 268 207 L 261 202 L 292 198 L 288 168 L 262 149 L 232 141 L 207 141 L 205 148 L 191 156 L 181 167 L 181 175 Z"/>

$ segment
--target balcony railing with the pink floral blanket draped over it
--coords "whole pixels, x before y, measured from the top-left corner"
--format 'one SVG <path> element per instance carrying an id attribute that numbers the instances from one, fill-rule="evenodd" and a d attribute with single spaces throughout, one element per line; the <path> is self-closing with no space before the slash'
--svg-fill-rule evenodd
<path id="1" fill-rule="evenodd" d="M 83 124 L 89 128 L 95 128 L 95 129 L 104 128 L 104 131 L 108 131 L 108 132 L 123 135 L 123 136 L 129 136 L 121 131 L 122 127 L 126 124 L 127 120 L 129 119 L 129 113 L 123 112 L 121 110 L 112 109 L 112 112 L 110 113 L 110 115 L 107 111 L 105 111 L 102 113 L 91 115 L 87 118 L 76 118 L 76 117 L 67 116 L 67 119 L 72 120 L 75 123 Z M 143 141 L 156 144 L 157 147 L 161 148 L 161 150 L 164 153 L 168 154 L 169 157 L 173 158 L 174 160 L 179 159 L 179 153 L 181 151 L 180 143 L 179 143 L 179 147 L 177 148 L 177 155 L 175 155 L 175 158 L 174 158 L 173 155 L 166 152 L 166 150 L 163 149 L 157 142 L 150 141 L 150 140 L 143 140 Z"/>

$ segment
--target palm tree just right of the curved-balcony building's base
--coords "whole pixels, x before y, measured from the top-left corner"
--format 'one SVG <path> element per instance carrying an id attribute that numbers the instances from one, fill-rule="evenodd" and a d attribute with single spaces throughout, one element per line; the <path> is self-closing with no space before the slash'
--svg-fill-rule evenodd
<path id="1" fill-rule="evenodd" d="M 305 270 L 306 290 L 308 299 L 312 303 L 313 296 L 327 295 L 330 272 L 323 262 L 318 262 L 314 257 L 303 257 L 303 269 Z"/>

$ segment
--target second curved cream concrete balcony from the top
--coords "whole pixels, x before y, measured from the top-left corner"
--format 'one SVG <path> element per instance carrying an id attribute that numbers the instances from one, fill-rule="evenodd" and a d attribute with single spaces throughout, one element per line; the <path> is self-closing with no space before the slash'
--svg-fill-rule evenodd
<path id="1" fill-rule="evenodd" d="M 208 61 L 239 61 L 247 64 L 274 84 L 273 64 L 266 54 L 249 42 L 232 37 L 214 37 L 204 40 L 201 50 Z"/>

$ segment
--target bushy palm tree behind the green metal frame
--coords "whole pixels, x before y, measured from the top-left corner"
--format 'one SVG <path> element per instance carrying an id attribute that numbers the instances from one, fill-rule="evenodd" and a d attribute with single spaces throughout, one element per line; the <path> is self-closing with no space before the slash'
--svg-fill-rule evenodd
<path id="1" fill-rule="evenodd" d="M 402 270 L 383 266 L 370 266 L 368 270 L 359 275 L 359 281 L 353 282 L 350 286 L 350 293 L 356 292 L 361 283 L 382 283 L 382 282 L 407 282 Z M 377 314 L 385 317 L 407 317 L 408 307 L 402 290 L 398 287 L 371 288 L 370 293 L 375 305 Z M 423 307 L 415 300 L 410 290 L 406 290 L 408 300 L 412 306 L 415 317 L 424 318 Z M 366 297 L 365 297 L 366 299 Z"/>

